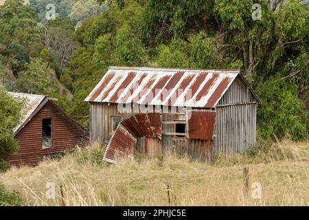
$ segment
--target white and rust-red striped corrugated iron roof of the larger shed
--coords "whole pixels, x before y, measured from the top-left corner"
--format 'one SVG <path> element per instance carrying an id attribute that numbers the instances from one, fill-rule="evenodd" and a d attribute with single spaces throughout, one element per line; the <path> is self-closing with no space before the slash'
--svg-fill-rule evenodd
<path id="1" fill-rule="evenodd" d="M 109 67 L 85 101 L 213 108 L 238 74 L 228 69 Z"/>

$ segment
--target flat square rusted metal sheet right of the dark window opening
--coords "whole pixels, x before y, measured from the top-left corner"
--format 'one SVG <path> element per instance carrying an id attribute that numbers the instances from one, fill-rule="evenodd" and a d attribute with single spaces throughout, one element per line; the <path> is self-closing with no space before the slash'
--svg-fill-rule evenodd
<path id="1" fill-rule="evenodd" d="M 188 120 L 190 139 L 214 140 L 216 111 L 192 110 Z"/>

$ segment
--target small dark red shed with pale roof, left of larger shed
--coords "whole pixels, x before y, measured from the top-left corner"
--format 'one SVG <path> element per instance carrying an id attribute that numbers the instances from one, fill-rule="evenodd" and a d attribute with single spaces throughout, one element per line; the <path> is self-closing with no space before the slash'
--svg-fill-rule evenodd
<path id="1" fill-rule="evenodd" d="M 25 104 L 20 124 L 14 128 L 19 151 L 8 157 L 9 164 L 35 165 L 45 155 L 73 148 L 86 138 L 86 131 L 48 96 L 10 94 Z"/>

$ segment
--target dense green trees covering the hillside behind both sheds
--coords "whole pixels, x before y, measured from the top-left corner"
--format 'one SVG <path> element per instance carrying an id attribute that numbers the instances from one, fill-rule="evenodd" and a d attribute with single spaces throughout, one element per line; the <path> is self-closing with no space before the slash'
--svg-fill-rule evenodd
<path id="1" fill-rule="evenodd" d="M 308 138 L 308 6 L 298 0 L 97 2 L 100 7 L 95 1 L 48 1 L 58 18 L 46 21 L 47 1 L 26 6 L 7 0 L 0 8 L 5 87 L 53 94 L 87 126 L 84 98 L 108 65 L 241 69 L 262 98 L 260 135 Z M 253 3 L 262 7 L 261 20 L 252 19 Z M 36 76 L 41 80 L 31 82 Z"/>

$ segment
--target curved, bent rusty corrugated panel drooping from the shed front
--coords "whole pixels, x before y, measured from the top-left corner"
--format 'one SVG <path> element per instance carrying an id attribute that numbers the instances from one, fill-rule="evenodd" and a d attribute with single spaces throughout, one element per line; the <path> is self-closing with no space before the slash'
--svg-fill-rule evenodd
<path id="1" fill-rule="evenodd" d="M 137 113 L 122 120 L 111 137 L 104 160 L 115 163 L 117 157 L 133 154 L 137 137 L 156 137 L 161 140 L 162 123 L 160 113 Z"/>

